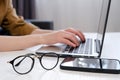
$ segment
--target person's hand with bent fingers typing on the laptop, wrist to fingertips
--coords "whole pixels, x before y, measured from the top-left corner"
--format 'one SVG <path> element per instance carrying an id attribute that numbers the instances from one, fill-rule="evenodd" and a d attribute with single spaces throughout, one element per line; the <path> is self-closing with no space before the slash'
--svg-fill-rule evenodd
<path id="1" fill-rule="evenodd" d="M 78 36 L 82 42 L 85 41 L 84 35 L 80 31 L 72 28 L 38 35 L 41 36 L 40 39 L 42 39 L 42 44 L 64 43 L 76 47 L 80 43 L 76 36 Z"/>

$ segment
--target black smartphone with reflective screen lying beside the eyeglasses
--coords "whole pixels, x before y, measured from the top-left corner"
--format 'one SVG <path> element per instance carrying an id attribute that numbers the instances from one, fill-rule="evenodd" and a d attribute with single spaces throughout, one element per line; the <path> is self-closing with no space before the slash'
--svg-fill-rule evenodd
<path id="1" fill-rule="evenodd" d="M 120 74 L 120 61 L 106 58 L 67 57 L 60 64 L 63 70 Z"/>

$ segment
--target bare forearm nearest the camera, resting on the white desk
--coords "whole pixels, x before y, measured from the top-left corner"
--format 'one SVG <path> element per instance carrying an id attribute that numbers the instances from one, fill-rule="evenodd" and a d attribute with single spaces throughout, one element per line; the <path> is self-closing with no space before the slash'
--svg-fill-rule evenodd
<path id="1" fill-rule="evenodd" d="M 38 37 L 34 35 L 0 36 L 0 51 L 25 49 L 25 48 L 39 44 L 37 40 L 38 40 Z"/>

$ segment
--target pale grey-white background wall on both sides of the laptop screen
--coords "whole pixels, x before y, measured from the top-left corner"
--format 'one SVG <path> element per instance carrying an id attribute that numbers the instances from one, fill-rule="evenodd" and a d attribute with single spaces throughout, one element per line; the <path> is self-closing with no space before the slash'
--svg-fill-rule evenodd
<path id="1" fill-rule="evenodd" d="M 102 0 L 36 0 L 36 18 L 54 21 L 55 29 L 97 31 Z M 120 0 L 112 0 L 108 31 L 120 31 Z M 114 26 L 114 27 L 113 27 Z"/>

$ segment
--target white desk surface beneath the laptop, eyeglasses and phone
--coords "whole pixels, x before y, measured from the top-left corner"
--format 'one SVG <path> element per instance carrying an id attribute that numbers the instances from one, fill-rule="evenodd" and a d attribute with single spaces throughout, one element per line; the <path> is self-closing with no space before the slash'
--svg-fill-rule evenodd
<path id="1" fill-rule="evenodd" d="M 120 80 L 120 74 L 65 71 L 60 70 L 59 65 L 54 70 L 46 71 L 39 65 L 38 60 L 30 73 L 19 75 L 6 63 L 16 56 L 30 52 L 28 50 L 0 52 L 0 80 Z M 120 59 L 120 33 L 106 34 L 102 57 Z M 59 63 L 62 60 L 61 58 Z"/>

